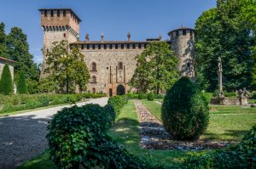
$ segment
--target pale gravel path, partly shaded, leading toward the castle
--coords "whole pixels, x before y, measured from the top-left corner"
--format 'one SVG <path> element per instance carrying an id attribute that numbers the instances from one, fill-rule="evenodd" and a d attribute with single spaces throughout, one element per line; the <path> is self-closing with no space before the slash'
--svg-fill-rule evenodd
<path id="1" fill-rule="evenodd" d="M 84 104 L 108 103 L 108 98 L 90 99 Z M 19 115 L 0 117 L 0 168 L 15 168 L 47 148 L 47 122 L 58 110 L 72 105 L 35 110 Z"/>

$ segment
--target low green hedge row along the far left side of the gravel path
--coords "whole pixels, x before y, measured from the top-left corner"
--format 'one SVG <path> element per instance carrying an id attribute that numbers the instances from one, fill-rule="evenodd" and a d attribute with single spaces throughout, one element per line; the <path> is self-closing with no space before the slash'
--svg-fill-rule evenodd
<path id="1" fill-rule="evenodd" d="M 29 110 L 55 104 L 75 103 L 82 99 L 101 98 L 105 94 L 80 93 L 80 94 L 17 94 L 0 95 L 0 113 Z"/>

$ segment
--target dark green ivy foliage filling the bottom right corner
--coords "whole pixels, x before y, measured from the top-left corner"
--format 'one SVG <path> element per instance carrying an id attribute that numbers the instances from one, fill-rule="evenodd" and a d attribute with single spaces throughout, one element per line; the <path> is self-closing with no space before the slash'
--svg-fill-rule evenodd
<path id="1" fill-rule="evenodd" d="M 194 156 L 184 163 L 186 168 L 254 168 L 256 166 L 256 126 L 240 144 L 230 145 L 206 155 Z"/>

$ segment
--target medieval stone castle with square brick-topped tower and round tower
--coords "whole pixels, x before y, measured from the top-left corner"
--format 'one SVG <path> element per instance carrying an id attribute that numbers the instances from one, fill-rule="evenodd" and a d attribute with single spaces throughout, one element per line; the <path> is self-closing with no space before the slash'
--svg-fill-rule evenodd
<path id="1" fill-rule="evenodd" d="M 84 41 L 79 39 L 79 16 L 71 8 L 41 8 L 41 25 L 44 31 L 44 61 L 41 77 L 44 77 L 46 54 L 53 48 L 53 42 L 67 40 L 69 46 L 78 45 L 84 54 L 84 64 L 90 70 L 88 92 L 107 93 L 108 96 L 127 93 L 131 87 L 128 82 L 137 67 L 136 56 L 141 54 L 148 43 L 161 41 L 161 37 L 146 41 L 105 41 L 101 35 L 100 41 L 90 41 L 89 35 Z M 195 77 L 194 43 L 195 31 L 181 27 L 168 33 L 172 50 L 180 59 L 181 76 Z"/>

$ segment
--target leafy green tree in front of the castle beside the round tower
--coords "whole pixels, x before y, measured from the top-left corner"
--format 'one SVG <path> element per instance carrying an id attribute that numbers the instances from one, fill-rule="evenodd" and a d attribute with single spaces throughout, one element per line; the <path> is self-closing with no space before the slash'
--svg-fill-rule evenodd
<path id="1" fill-rule="evenodd" d="M 177 58 L 166 42 L 151 42 L 137 56 L 137 68 L 131 78 L 131 86 L 138 92 L 167 89 L 177 80 Z"/>

